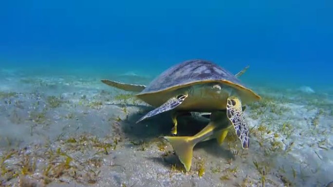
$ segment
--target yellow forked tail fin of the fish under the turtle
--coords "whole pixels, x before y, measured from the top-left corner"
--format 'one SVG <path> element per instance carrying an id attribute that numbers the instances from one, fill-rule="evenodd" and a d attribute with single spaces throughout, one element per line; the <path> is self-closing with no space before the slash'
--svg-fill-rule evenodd
<path id="1" fill-rule="evenodd" d="M 193 148 L 195 141 L 192 140 L 191 136 L 165 136 L 167 141 L 170 142 L 173 150 L 178 155 L 179 160 L 185 167 L 186 171 L 191 169 Z"/>

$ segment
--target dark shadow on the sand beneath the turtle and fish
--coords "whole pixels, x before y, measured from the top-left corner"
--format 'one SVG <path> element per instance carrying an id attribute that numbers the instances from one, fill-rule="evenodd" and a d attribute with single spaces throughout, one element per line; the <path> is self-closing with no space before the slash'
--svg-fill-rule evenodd
<path id="1" fill-rule="evenodd" d="M 148 113 L 152 107 L 140 106 L 144 108 L 142 112 L 132 113 L 129 115 L 128 119 L 121 121 L 119 124 L 121 126 L 124 136 L 133 142 L 147 142 L 156 138 L 163 139 L 163 136 L 173 136 L 171 134 L 171 128 L 173 127 L 172 120 L 170 118 L 170 113 L 165 112 L 154 116 L 149 119 L 145 119 L 139 123 L 135 123 L 138 119 Z M 176 136 L 194 136 L 200 132 L 206 125 L 207 122 L 203 122 L 194 119 L 190 116 L 180 116 L 178 120 L 178 134 Z M 193 151 L 202 150 L 209 155 L 215 157 L 220 157 L 223 159 L 235 159 L 234 154 L 224 148 L 224 146 L 219 146 L 216 139 L 204 141 L 198 143 Z M 169 166 L 169 163 L 179 164 L 180 161 L 178 157 L 174 154 L 170 154 L 167 157 L 151 157 L 155 162 L 161 163 L 163 165 Z"/>

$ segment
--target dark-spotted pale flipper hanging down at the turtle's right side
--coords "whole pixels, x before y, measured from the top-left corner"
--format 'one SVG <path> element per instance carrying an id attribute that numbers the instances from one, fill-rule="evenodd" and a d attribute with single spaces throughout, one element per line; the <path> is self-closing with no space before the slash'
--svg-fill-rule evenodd
<path id="1" fill-rule="evenodd" d="M 227 117 L 234 125 L 236 135 L 240 138 L 243 149 L 248 149 L 250 144 L 249 128 L 244 119 L 241 102 L 235 96 L 227 99 Z"/>

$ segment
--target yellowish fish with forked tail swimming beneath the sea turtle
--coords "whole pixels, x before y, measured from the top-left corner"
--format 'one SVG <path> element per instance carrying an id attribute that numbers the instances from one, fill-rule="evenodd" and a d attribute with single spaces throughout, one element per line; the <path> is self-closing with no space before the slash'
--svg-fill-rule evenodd
<path id="1" fill-rule="evenodd" d="M 245 106 L 242 107 L 242 111 L 244 110 Z M 203 130 L 194 136 L 164 136 L 170 142 L 186 171 L 189 171 L 191 168 L 193 148 L 197 143 L 215 138 L 218 144 L 222 145 L 229 129 L 233 126 L 231 120 L 226 117 L 226 113 L 226 110 L 212 113 L 194 113 L 194 117 L 197 119 L 210 119 L 208 125 Z M 193 113 L 191 114 L 193 115 Z"/>

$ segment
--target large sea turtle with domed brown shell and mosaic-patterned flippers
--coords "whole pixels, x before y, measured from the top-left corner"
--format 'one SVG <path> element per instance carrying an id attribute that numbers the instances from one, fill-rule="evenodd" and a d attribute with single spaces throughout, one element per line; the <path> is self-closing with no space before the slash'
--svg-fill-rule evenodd
<path id="1" fill-rule="evenodd" d="M 245 68 L 246 70 L 246 68 Z M 168 68 L 149 85 L 131 85 L 110 80 L 103 83 L 128 91 L 140 92 L 135 96 L 156 107 L 137 121 L 172 111 L 177 134 L 177 116 L 183 112 L 215 112 L 226 109 L 226 116 L 233 123 L 242 148 L 249 147 L 249 129 L 241 106 L 260 99 L 260 96 L 241 84 L 237 76 L 207 60 L 188 60 Z"/>

